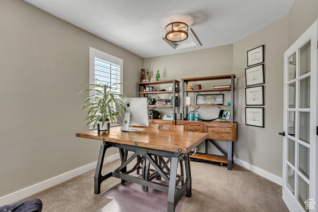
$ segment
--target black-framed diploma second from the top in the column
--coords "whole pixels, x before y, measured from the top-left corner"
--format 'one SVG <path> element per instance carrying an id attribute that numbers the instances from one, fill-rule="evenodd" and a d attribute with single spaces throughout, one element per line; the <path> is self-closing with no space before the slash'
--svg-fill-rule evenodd
<path id="1" fill-rule="evenodd" d="M 264 84 L 264 64 L 245 69 L 246 86 Z"/>

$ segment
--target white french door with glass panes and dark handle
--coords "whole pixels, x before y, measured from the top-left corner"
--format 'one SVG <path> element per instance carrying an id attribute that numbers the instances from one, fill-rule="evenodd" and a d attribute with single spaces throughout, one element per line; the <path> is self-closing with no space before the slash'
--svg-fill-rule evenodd
<path id="1" fill-rule="evenodd" d="M 283 200 L 292 212 L 318 211 L 317 100 L 316 21 L 284 53 Z"/>

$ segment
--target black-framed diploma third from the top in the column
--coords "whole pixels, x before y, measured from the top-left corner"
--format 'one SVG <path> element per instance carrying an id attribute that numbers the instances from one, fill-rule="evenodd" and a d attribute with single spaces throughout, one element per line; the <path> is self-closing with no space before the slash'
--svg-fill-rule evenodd
<path id="1" fill-rule="evenodd" d="M 264 85 L 245 88 L 246 105 L 264 105 Z"/>

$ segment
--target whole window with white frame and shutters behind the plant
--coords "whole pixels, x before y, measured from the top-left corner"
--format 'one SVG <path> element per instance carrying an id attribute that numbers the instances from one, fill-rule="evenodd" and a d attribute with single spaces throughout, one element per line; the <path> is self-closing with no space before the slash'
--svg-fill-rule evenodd
<path id="1" fill-rule="evenodd" d="M 89 84 L 122 83 L 122 79 L 122 59 L 89 47 Z M 122 85 L 113 85 L 111 91 L 123 94 Z M 95 95 L 95 92 L 90 91 L 89 95 Z"/>

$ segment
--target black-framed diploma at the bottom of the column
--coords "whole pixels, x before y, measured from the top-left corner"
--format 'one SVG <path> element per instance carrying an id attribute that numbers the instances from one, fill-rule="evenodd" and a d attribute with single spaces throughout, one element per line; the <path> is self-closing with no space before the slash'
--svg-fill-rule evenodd
<path id="1" fill-rule="evenodd" d="M 264 127 L 264 107 L 245 107 L 245 124 Z"/>

